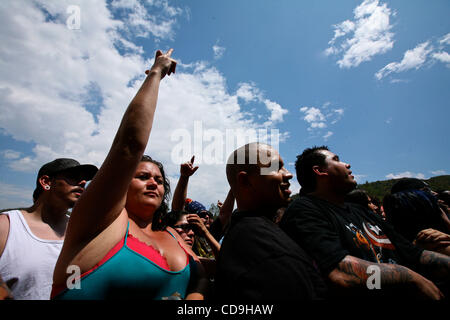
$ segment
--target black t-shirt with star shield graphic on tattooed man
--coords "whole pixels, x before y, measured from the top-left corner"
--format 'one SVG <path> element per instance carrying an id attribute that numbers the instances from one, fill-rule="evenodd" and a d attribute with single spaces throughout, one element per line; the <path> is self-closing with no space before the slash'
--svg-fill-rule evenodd
<path id="1" fill-rule="evenodd" d="M 353 203 L 340 207 L 313 196 L 293 201 L 280 227 L 312 256 L 324 276 L 346 255 L 414 268 L 423 251 L 369 209 Z"/>

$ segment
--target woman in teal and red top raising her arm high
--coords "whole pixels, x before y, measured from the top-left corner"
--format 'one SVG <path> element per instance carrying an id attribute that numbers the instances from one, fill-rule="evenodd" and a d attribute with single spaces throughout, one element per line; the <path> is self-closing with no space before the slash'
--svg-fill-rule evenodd
<path id="1" fill-rule="evenodd" d="M 53 275 L 54 299 L 203 299 L 207 282 L 198 258 L 175 230 L 157 228 L 169 183 L 162 165 L 143 155 L 159 83 L 175 72 L 172 52 L 156 52 L 105 161 L 72 211 Z"/>

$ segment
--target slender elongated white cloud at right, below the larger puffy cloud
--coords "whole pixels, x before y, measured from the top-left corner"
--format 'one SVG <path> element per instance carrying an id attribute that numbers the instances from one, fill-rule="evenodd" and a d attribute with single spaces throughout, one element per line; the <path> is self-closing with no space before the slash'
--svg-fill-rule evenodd
<path id="1" fill-rule="evenodd" d="M 426 62 L 427 56 L 432 50 L 428 41 L 421 43 L 414 49 L 406 51 L 402 61 L 391 62 L 379 70 L 375 77 L 380 80 L 392 72 L 399 73 L 410 69 L 419 69 Z"/>

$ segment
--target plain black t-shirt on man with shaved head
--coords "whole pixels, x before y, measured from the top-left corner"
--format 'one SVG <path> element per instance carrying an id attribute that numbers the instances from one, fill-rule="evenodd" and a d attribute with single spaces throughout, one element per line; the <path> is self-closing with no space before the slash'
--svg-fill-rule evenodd
<path id="1" fill-rule="evenodd" d="M 274 222 L 236 212 L 220 249 L 217 301 L 323 299 L 326 286 L 311 258 Z"/>

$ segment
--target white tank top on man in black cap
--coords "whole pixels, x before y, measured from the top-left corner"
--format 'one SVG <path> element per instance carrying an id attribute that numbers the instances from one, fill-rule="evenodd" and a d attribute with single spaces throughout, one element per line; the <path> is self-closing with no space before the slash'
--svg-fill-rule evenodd
<path id="1" fill-rule="evenodd" d="M 63 240 L 36 237 L 19 210 L 1 214 L 9 216 L 9 234 L 0 256 L 0 276 L 4 282 L 18 279 L 11 290 L 14 299 L 49 300 Z"/>

